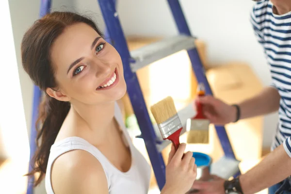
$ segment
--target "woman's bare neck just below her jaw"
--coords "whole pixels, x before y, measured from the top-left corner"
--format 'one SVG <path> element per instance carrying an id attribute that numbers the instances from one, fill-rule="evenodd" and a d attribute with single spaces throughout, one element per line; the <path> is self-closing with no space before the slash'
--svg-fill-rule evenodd
<path id="1" fill-rule="evenodd" d="M 74 131 L 83 137 L 94 136 L 99 140 L 106 139 L 114 118 L 114 102 L 99 105 L 71 106 L 68 114 L 69 123 Z M 97 140 L 97 139 L 96 139 Z M 98 140 L 97 140 L 98 141 Z"/>

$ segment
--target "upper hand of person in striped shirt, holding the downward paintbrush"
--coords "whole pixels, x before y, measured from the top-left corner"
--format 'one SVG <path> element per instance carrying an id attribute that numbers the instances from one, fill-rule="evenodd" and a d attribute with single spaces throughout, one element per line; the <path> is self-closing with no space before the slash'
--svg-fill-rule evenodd
<path id="1" fill-rule="evenodd" d="M 197 97 L 195 103 L 203 105 L 203 114 L 215 125 L 225 125 L 236 119 L 237 110 L 234 106 L 212 96 Z"/>

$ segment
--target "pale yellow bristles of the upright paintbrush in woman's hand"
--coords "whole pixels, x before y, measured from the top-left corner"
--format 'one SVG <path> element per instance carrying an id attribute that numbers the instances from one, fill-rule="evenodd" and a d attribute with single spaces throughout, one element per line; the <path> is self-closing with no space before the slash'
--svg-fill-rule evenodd
<path id="1" fill-rule="evenodd" d="M 172 97 L 166 97 L 150 107 L 157 124 L 161 124 L 177 114 L 177 110 Z"/>

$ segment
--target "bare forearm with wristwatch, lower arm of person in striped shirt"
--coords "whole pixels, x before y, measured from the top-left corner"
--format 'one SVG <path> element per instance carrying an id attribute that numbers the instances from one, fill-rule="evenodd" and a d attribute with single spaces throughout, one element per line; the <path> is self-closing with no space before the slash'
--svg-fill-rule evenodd
<path id="1" fill-rule="evenodd" d="M 244 194 L 255 194 L 291 175 L 291 158 L 283 145 L 277 147 L 258 165 L 241 175 L 240 182 Z"/>

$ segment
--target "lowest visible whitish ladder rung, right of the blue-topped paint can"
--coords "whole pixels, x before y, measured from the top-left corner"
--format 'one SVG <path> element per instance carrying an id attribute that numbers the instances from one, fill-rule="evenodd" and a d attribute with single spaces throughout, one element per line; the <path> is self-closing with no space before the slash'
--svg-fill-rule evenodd
<path id="1" fill-rule="evenodd" d="M 217 162 L 211 164 L 210 174 L 228 179 L 240 171 L 239 164 L 240 161 L 223 156 Z"/>

